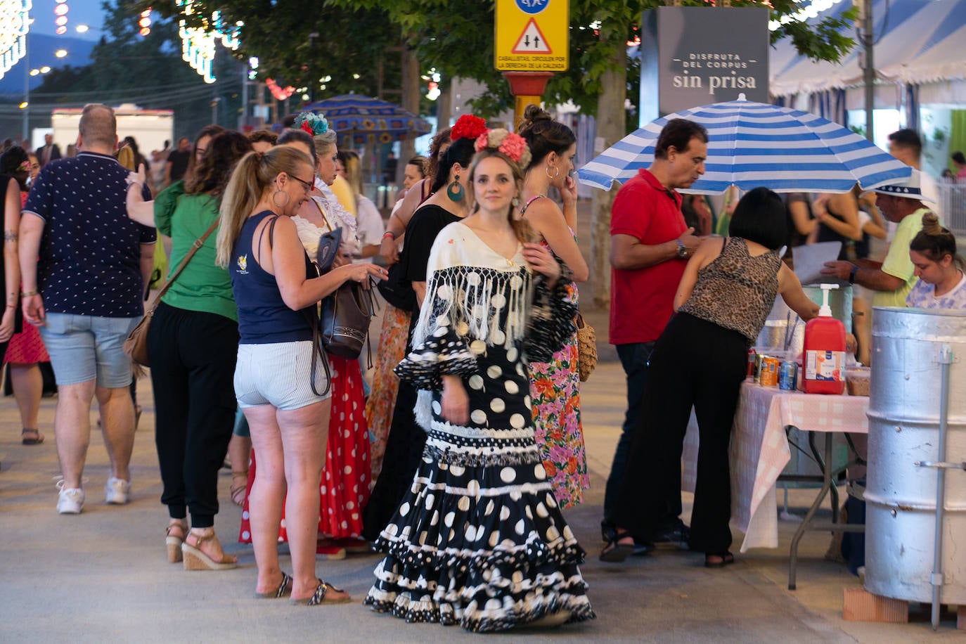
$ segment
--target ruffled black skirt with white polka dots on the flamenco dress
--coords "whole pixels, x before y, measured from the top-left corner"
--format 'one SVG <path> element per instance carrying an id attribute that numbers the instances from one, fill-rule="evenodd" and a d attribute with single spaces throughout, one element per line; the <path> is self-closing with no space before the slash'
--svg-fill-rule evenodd
<path id="1" fill-rule="evenodd" d="M 473 631 L 560 611 L 569 622 L 592 619 L 584 552 L 533 441 L 529 397 L 510 393 L 526 392 L 526 369 L 488 348 L 464 382 L 469 427 L 442 421 L 436 394 L 423 462 L 377 541 L 386 556 L 364 603 Z"/>

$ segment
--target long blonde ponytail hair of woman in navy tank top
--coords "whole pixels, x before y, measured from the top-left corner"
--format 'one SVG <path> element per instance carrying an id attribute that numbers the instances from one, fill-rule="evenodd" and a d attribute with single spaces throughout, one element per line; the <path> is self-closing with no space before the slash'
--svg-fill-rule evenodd
<path id="1" fill-rule="evenodd" d="M 275 177 L 283 172 L 294 177 L 303 167 L 312 171 L 312 159 L 292 146 L 276 146 L 264 154 L 250 152 L 241 157 L 221 198 L 221 224 L 215 241 L 217 266 L 228 267 L 245 219 L 255 210 Z"/>

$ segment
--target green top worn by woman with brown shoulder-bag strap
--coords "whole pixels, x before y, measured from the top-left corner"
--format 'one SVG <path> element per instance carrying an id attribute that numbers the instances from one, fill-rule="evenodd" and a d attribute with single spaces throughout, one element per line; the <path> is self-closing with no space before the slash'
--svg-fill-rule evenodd
<path id="1" fill-rule="evenodd" d="M 186 195 L 184 191 L 182 182 L 172 183 L 155 199 L 157 232 L 171 238 L 168 277 L 185 259 L 194 242 L 218 218 L 218 205 L 214 197 Z M 179 309 L 214 313 L 238 322 L 231 276 L 226 268 L 214 264 L 214 242 L 217 237 L 218 229 L 215 228 L 161 301 Z"/>

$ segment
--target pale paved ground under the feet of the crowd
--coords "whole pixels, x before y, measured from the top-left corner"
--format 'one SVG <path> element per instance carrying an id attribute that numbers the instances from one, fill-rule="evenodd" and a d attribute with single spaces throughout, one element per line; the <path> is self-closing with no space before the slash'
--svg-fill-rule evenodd
<path id="1" fill-rule="evenodd" d="M 602 363 L 585 383 L 583 427 L 592 488 L 582 506 L 565 513 L 590 554 L 582 572 L 590 584 L 597 619 L 558 630 L 496 637 L 876 644 L 963 640 L 950 619 L 939 634 L 932 633 L 927 610 L 910 625 L 842 621 L 842 588 L 858 582 L 842 565 L 823 561 L 827 534 L 806 537 L 799 590 L 786 590 L 791 523 L 781 523 L 778 550 L 739 555 L 734 566 L 721 571 L 704 569 L 698 554 L 674 550 L 659 550 L 624 566 L 601 564 L 596 554 L 603 482 L 617 438 L 623 395 L 622 374 L 614 362 Z M 371 582 L 377 562 L 373 556 L 319 563 L 320 574 L 353 594 L 352 604 L 308 608 L 253 600 L 254 561 L 250 546 L 233 543 L 241 513 L 228 500 L 227 470 L 221 478 L 222 511 L 216 527 L 227 549 L 239 556 L 241 568 L 187 573 L 180 565 L 168 564 L 163 545 L 166 513 L 157 500 L 154 409 L 150 384 L 144 380 L 140 402 L 145 412 L 135 442 L 131 503 L 103 505 L 107 457 L 95 434 L 85 471 L 89 482 L 84 513 L 58 516 L 53 484 L 58 467 L 50 430 L 55 399 L 43 401 L 41 427 L 47 441 L 35 447 L 19 444 L 14 401 L 0 400 L 0 640 L 416 642 L 472 637 L 456 628 L 406 625 L 363 608 L 358 601 Z M 800 514 L 808 494 L 796 491 L 792 496 Z"/>

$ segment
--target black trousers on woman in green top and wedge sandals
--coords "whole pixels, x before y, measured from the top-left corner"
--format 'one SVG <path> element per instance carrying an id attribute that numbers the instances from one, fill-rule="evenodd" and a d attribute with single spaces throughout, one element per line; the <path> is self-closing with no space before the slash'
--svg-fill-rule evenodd
<path id="1" fill-rule="evenodd" d="M 171 518 L 214 524 L 218 469 L 235 422 L 238 322 L 158 305 L 148 330 L 161 503 Z"/>

